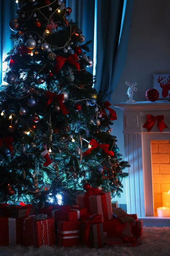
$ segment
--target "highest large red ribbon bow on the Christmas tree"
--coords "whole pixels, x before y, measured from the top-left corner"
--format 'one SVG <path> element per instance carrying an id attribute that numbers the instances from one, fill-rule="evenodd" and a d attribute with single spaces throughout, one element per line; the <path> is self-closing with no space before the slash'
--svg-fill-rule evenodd
<path id="1" fill-rule="evenodd" d="M 78 61 L 77 53 L 71 54 L 69 58 L 57 56 L 56 61 L 57 61 L 57 64 L 55 66 L 56 73 L 59 72 L 60 68 L 62 68 L 62 66 L 65 64 L 65 61 L 68 61 L 70 64 L 73 64 L 75 67 L 77 67 L 78 70 L 80 70 L 80 65 L 77 62 Z"/>

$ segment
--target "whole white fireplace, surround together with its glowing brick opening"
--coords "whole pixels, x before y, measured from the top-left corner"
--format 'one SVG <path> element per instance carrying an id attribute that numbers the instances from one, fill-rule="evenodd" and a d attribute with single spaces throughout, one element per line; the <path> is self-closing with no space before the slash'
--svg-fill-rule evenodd
<path id="1" fill-rule="evenodd" d="M 123 111 L 125 160 L 130 163 L 127 212 L 137 213 L 139 218 L 158 218 L 157 208 L 164 207 L 162 193 L 170 190 L 170 102 L 120 103 L 115 107 Z M 147 114 L 163 115 L 168 128 L 161 133 L 156 120 L 148 133 L 143 128 Z"/>

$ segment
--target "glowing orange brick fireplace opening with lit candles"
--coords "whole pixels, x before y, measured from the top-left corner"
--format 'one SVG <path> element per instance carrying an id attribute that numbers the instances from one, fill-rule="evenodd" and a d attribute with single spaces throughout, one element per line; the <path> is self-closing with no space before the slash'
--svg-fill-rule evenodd
<path id="1" fill-rule="evenodd" d="M 170 218 L 170 140 L 151 140 L 154 216 Z"/>

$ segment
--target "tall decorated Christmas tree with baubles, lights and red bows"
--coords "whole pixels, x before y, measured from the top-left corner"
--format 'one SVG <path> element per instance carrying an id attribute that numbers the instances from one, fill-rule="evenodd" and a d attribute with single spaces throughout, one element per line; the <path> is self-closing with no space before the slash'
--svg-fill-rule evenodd
<path id="1" fill-rule="evenodd" d="M 86 70 L 91 41 L 68 21 L 62 0 L 17 0 L 14 47 L 0 91 L 0 201 L 75 202 L 90 186 L 122 192 L 122 161 L 111 134 L 116 113 Z"/>

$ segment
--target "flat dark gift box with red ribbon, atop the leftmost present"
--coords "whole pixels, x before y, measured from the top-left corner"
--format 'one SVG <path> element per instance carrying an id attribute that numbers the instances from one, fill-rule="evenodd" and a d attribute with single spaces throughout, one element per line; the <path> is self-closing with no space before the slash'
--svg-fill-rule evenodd
<path id="1" fill-rule="evenodd" d="M 34 215 L 35 208 L 31 204 L 24 206 L 16 204 L 0 205 L 0 215 L 11 218 L 23 218 L 28 215 Z"/>

